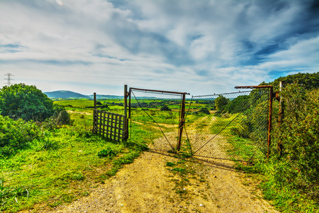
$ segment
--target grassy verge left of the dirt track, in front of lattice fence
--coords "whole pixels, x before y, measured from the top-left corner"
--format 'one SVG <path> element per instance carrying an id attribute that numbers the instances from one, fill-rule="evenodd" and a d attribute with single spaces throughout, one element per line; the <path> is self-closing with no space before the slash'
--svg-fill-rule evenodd
<path id="1" fill-rule="evenodd" d="M 90 115 L 71 119 L 72 126 L 42 129 L 28 148 L 0 158 L 0 212 L 37 212 L 87 196 L 145 150 L 91 134 Z"/>

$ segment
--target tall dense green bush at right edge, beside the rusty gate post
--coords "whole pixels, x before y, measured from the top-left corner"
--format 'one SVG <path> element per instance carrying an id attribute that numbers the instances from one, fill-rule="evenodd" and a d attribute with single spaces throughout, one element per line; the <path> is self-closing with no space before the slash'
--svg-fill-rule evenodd
<path id="1" fill-rule="evenodd" d="M 298 175 L 286 177 L 301 190 L 319 190 L 319 89 L 307 92 L 298 84 L 286 86 L 284 97 L 284 120 L 273 134 L 274 141 L 284 146 L 283 161 L 286 167 Z"/>

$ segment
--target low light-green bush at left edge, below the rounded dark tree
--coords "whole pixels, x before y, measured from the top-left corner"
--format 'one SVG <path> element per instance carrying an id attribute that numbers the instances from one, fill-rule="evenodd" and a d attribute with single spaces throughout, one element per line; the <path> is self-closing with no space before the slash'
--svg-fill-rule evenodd
<path id="1" fill-rule="evenodd" d="M 33 122 L 22 119 L 14 121 L 0 115 L 0 156 L 9 156 L 21 148 L 26 148 L 38 136 L 38 126 Z"/>

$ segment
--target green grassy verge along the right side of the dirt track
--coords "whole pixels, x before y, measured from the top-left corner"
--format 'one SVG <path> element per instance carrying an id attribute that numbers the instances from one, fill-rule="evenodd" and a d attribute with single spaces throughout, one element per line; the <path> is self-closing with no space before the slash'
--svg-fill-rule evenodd
<path id="1" fill-rule="evenodd" d="M 284 162 L 278 159 L 263 159 L 262 154 L 254 152 L 255 146 L 250 140 L 233 137 L 229 143 L 233 145 L 233 149 L 228 151 L 230 155 L 248 159 L 245 164 L 237 163 L 236 168 L 244 171 L 248 178 L 254 178 L 259 182 L 258 187 L 262 190 L 264 199 L 269 200 L 276 209 L 281 212 L 319 212 L 318 198 L 302 193 L 294 187 L 293 182 L 278 180 L 278 175 L 274 175 L 278 171 L 290 172 L 286 171 Z M 252 158 L 252 156 L 259 156 L 259 158 Z M 291 173 L 291 175 L 294 174 Z M 245 179 L 243 182 L 245 183 Z"/>

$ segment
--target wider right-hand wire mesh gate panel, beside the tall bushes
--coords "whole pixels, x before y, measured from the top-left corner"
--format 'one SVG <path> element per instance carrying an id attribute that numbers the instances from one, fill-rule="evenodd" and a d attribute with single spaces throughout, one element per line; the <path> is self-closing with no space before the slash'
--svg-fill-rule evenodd
<path id="1" fill-rule="evenodd" d="M 254 160 L 267 153 L 268 90 L 194 96 L 184 141 L 191 155 Z"/>

